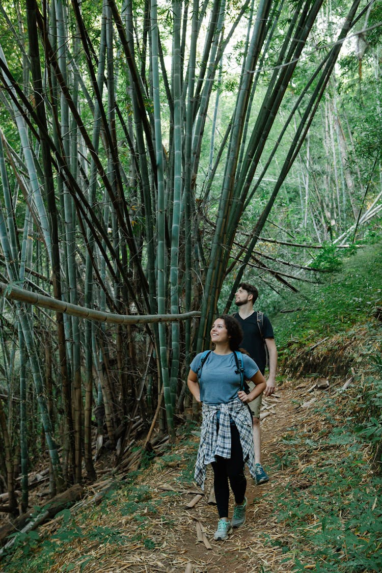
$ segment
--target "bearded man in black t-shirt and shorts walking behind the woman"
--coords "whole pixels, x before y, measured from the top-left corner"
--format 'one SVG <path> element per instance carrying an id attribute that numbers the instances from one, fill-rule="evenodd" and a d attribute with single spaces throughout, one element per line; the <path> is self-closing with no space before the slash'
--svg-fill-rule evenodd
<path id="1" fill-rule="evenodd" d="M 259 370 L 264 375 L 267 357 L 263 339 L 257 321 L 257 312 L 253 305 L 259 296 L 255 286 L 242 282 L 235 293 L 235 304 L 239 307 L 239 312 L 234 314 L 239 321 L 244 333 L 241 347 L 246 350 L 255 361 Z M 269 374 L 266 381 L 266 388 L 263 392 L 265 396 L 271 396 L 275 391 L 276 370 L 277 370 L 277 348 L 274 342 L 273 328 L 267 316 L 263 315 L 263 337 L 269 355 Z M 253 442 L 255 448 L 255 472 L 257 485 L 265 484 L 269 477 L 261 465 L 261 429 L 260 429 L 260 409 L 262 394 L 250 403 L 253 411 Z"/>

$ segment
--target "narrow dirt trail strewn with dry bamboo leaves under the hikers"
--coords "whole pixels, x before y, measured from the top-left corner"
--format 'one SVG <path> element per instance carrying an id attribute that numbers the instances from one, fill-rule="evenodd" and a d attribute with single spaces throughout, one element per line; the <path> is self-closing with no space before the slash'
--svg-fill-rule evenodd
<path id="1" fill-rule="evenodd" d="M 278 437 L 290 426 L 290 419 L 296 413 L 296 406 L 292 405 L 292 399 L 295 399 L 296 395 L 291 387 L 288 388 L 288 383 L 278 389 L 277 397 L 266 400 L 268 406 L 274 406 L 274 413 L 261 422 L 262 463 L 269 472 L 270 481 L 261 486 L 254 485 L 246 470 L 249 504 L 245 525 L 236 529 L 228 540 L 214 541 L 213 533 L 218 521 L 216 506 L 207 505 L 206 500 L 203 500 L 196 505 L 194 512 L 189 511 L 190 516 L 197 516 L 203 524 L 212 547 L 207 550 L 203 543 L 195 544 L 195 526 L 191 525 L 190 531 L 183 534 L 183 547 L 187 548 L 185 555 L 189 556 L 194 573 L 254 573 L 262 571 L 261 566 L 267 572 L 286 572 L 285 564 L 279 563 L 283 558 L 281 551 L 275 550 L 270 544 L 264 545 L 263 537 L 263 533 L 272 537 L 284 533 L 282 528 L 277 526 L 276 516 L 270 515 L 273 504 L 269 503 L 274 486 L 279 485 L 279 480 L 282 479 L 282 472 L 272 472 L 270 466 L 273 465 L 274 454 L 282 454 L 282 444 L 279 443 Z M 212 472 L 208 475 L 210 480 L 206 483 L 206 492 L 211 485 Z M 231 494 L 230 511 L 232 507 Z"/>

